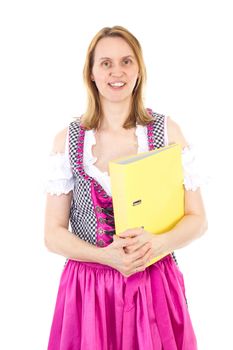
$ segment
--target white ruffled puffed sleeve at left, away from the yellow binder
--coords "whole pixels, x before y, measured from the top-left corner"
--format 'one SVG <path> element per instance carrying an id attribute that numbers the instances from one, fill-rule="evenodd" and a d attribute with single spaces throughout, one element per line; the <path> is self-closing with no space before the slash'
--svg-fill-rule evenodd
<path id="1" fill-rule="evenodd" d="M 67 194 L 74 188 L 74 177 L 69 161 L 68 133 L 64 153 L 51 153 L 47 159 L 44 191 L 52 195 Z"/>

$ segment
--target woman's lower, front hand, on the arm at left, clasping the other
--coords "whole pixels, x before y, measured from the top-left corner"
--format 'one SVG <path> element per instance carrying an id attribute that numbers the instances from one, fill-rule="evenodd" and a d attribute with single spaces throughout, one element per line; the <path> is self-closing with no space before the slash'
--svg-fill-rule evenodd
<path id="1" fill-rule="evenodd" d="M 136 244 L 138 237 L 120 238 L 113 236 L 113 242 L 107 247 L 102 248 L 105 251 L 104 263 L 118 270 L 125 277 L 129 277 L 136 272 L 144 271 L 151 259 L 151 243 L 143 244 L 133 253 L 126 253 L 125 248 Z"/>

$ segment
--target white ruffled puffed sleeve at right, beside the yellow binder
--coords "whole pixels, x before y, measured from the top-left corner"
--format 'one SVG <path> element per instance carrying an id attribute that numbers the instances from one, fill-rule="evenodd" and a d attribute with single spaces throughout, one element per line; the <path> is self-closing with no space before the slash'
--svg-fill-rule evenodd
<path id="1" fill-rule="evenodd" d="M 182 165 L 184 174 L 184 187 L 187 191 L 196 191 L 201 185 L 209 182 L 209 177 L 201 170 L 200 162 L 196 157 L 193 145 L 182 149 Z"/>

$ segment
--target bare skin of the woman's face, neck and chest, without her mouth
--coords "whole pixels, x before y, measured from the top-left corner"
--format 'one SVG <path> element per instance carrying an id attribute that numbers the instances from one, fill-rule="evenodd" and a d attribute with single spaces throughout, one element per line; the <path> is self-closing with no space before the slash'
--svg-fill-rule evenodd
<path id="1" fill-rule="evenodd" d="M 99 90 L 104 119 L 95 132 L 92 153 L 101 171 L 109 173 L 110 160 L 137 153 L 135 128 L 125 130 L 121 125 L 128 115 L 138 74 L 136 57 L 123 39 L 104 38 L 98 42 L 91 78 Z M 125 87 L 112 89 L 109 83 L 116 81 L 125 82 Z"/>

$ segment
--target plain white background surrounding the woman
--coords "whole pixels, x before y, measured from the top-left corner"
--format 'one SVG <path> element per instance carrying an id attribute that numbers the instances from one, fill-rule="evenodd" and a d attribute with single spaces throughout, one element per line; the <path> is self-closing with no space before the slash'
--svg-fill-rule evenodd
<path id="1" fill-rule="evenodd" d="M 232 12 L 230 1 L 205 0 L 1 2 L 0 348 L 47 348 L 65 258 L 43 243 L 46 159 L 84 111 L 90 40 L 116 24 L 142 44 L 146 105 L 181 126 L 211 177 L 208 232 L 177 258 L 199 350 L 233 349 Z"/>

